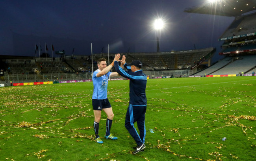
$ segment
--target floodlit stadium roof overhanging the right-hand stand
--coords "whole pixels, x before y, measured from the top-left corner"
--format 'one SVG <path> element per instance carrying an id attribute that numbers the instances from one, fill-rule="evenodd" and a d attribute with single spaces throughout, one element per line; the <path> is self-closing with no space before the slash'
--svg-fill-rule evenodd
<path id="1" fill-rule="evenodd" d="M 188 13 L 201 13 L 228 17 L 241 16 L 256 11 L 256 0 L 208 0 L 199 7 L 185 9 Z"/>

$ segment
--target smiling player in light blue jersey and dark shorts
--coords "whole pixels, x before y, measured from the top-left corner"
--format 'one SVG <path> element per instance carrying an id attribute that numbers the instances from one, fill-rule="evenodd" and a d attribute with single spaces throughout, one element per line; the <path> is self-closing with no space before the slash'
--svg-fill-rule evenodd
<path id="1" fill-rule="evenodd" d="M 115 57 L 116 58 L 116 57 Z M 117 59 L 118 60 L 118 59 Z M 114 59 L 115 61 L 115 59 Z M 98 59 L 97 65 L 98 69 L 93 72 L 93 113 L 94 113 L 94 123 L 93 128 L 95 131 L 95 139 L 96 142 L 102 144 L 103 141 L 100 139 L 98 135 L 99 131 L 99 122 L 101 117 L 101 111 L 103 110 L 107 114 L 106 121 L 106 139 L 116 140 L 117 137 L 114 137 L 110 133 L 110 128 L 112 125 L 112 120 L 114 118 L 114 114 L 112 111 L 112 107 L 108 101 L 107 93 L 108 93 L 108 78 L 119 76 L 117 72 L 109 72 L 111 68 L 114 66 L 114 61 L 108 65 L 106 63 L 106 59 L 101 58 Z"/>

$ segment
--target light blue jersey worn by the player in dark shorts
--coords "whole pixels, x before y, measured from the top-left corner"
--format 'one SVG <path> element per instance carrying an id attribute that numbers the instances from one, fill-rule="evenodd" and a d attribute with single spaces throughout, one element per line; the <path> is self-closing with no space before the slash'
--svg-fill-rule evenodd
<path id="1" fill-rule="evenodd" d="M 97 77 L 96 75 L 98 72 L 100 72 L 99 69 L 93 72 L 93 99 L 103 100 L 108 98 L 108 78 L 111 72 L 108 72 L 101 77 Z"/>

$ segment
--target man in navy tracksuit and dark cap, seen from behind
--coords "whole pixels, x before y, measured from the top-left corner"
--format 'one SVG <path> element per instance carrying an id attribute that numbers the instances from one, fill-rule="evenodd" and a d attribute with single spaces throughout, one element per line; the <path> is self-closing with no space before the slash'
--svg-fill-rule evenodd
<path id="1" fill-rule="evenodd" d="M 145 148 L 144 142 L 146 136 L 145 113 L 147 109 L 147 76 L 142 72 L 142 63 L 139 60 L 135 60 L 128 65 L 125 62 L 125 58 L 125 56 L 122 57 L 121 63 L 124 65 L 124 68 L 128 69 L 128 71 L 124 71 L 119 66 L 116 59 L 114 62 L 114 67 L 118 74 L 130 80 L 130 102 L 126 112 L 125 127 L 137 143 L 137 147 L 134 148 L 135 151 L 132 152 L 132 154 L 136 154 Z M 135 122 L 137 122 L 139 134 L 134 127 Z"/>

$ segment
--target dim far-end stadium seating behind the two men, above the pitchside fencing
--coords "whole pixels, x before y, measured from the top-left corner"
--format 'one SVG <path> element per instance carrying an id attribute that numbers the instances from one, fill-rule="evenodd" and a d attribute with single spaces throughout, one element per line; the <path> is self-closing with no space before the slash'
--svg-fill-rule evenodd
<path id="1" fill-rule="evenodd" d="M 215 48 L 204 48 L 198 50 L 185 50 L 161 53 L 125 53 L 126 62 L 131 63 L 138 59 L 143 63 L 143 70 L 180 70 L 195 68 L 206 59 L 210 59 L 214 54 Z M 55 59 L 52 62 L 51 58 L 41 59 L 4 59 L 5 71 L 8 74 L 55 74 L 55 73 L 70 73 L 70 72 L 91 72 L 97 67 L 99 58 L 106 58 L 107 63 L 111 63 L 115 54 L 102 53 L 90 56 L 66 56 L 65 59 Z M 93 61 L 92 61 L 93 60 Z M 93 65 L 92 65 L 93 64 Z M 113 68 L 114 70 L 114 68 Z"/>

